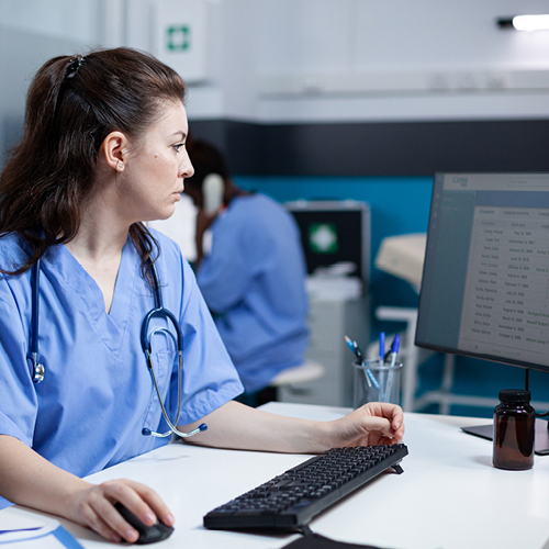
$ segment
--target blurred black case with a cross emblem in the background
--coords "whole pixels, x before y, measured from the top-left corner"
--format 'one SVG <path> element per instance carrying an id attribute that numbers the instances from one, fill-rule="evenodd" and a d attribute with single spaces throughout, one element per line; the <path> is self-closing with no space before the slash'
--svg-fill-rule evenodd
<path id="1" fill-rule="evenodd" d="M 352 264 L 350 273 L 368 288 L 370 278 L 370 208 L 355 200 L 287 202 L 301 232 L 309 274 L 335 264 Z"/>

